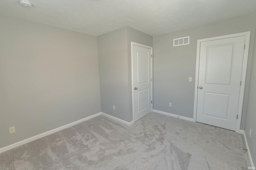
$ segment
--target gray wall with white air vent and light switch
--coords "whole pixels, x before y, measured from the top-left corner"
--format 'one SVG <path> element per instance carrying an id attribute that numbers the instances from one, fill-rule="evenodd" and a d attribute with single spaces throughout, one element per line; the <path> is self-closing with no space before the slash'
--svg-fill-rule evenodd
<path id="1" fill-rule="evenodd" d="M 153 108 L 193 118 L 197 40 L 251 31 L 241 125 L 241 129 L 244 129 L 256 27 L 255 17 L 256 14 L 252 14 L 153 37 Z M 189 45 L 173 47 L 174 38 L 186 36 L 190 36 Z M 193 81 L 188 82 L 188 77 L 192 77 Z M 172 102 L 172 107 L 169 107 L 169 102 Z"/>

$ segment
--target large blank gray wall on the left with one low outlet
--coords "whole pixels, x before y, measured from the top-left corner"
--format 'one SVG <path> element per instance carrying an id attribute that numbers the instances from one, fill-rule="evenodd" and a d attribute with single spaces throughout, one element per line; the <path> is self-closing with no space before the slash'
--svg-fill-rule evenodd
<path id="1" fill-rule="evenodd" d="M 0 148 L 101 111 L 96 37 L 0 23 Z"/>

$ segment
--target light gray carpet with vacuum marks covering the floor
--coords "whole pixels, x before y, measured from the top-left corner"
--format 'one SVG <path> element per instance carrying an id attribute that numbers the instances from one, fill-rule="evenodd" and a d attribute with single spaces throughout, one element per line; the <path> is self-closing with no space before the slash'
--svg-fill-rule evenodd
<path id="1" fill-rule="evenodd" d="M 98 116 L 0 154 L 1 170 L 247 170 L 241 134 L 150 113 Z"/>

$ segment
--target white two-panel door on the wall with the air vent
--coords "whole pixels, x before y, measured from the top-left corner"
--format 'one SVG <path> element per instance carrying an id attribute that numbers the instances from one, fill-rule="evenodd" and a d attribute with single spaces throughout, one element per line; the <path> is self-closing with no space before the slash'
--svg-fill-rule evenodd
<path id="1" fill-rule="evenodd" d="M 245 36 L 200 43 L 196 121 L 236 130 Z"/>

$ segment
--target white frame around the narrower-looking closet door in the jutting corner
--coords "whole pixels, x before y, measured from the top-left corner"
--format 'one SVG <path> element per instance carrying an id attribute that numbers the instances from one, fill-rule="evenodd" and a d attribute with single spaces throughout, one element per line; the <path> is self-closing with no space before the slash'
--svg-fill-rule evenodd
<path id="1" fill-rule="evenodd" d="M 134 87 L 133 87 L 133 45 L 139 46 L 139 47 L 144 47 L 147 49 L 151 49 L 151 112 L 153 112 L 153 47 L 150 47 L 148 45 L 143 45 L 139 43 L 132 42 L 132 122 L 134 123 L 134 101 L 133 101 L 133 93 L 134 93 Z"/>

